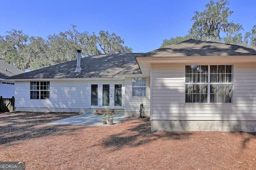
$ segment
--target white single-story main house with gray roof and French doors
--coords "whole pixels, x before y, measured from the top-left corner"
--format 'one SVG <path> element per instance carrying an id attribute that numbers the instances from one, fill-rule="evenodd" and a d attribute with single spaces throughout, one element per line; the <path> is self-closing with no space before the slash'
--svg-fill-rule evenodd
<path id="1" fill-rule="evenodd" d="M 256 47 L 190 39 L 148 53 L 80 60 L 78 51 L 75 61 L 8 79 L 17 111 L 136 116 L 143 103 L 151 130 L 256 132 Z"/>

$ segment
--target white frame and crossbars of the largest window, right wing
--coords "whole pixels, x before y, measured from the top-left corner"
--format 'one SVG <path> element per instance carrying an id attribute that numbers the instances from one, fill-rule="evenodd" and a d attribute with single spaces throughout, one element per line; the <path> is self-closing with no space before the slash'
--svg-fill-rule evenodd
<path id="1" fill-rule="evenodd" d="M 234 64 L 190 64 L 189 66 L 191 66 L 191 65 L 208 65 L 208 82 L 207 83 L 186 83 L 186 66 L 188 66 L 187 64 L 185 65 L 185 67 L 184 67 L 184 74 L 185 74 L 185 76 L 184 76 L 184 83 L 185 83 L 185 85 L 184 85 L 184 103 L 185 104 L 220 104 L 220 105 L 222 105 L 222 104 L 234 104 Z M 233 66 L 233 70 L 232 70 L 232 83 L 211 83 L 210 82 L 210 66 L 211 65 L 232 65 Z M 226 68 L 226 67 L 225 67 Z M 226 70 L 225 70 L 225 74 L 226 74 Z M 205 84 L 207 84 L 207 103 L 200 103 L 200 102 L 197 102 L 197 103 L 191 103 L 191 102 L 186 102 L 186 85 L 188 85 L 188 84 L 192 84 L 192 85 L 205 85 Z M 228 84 L 230 84 L 230 85 L 232 85 L 232 102 L 230 102 L 230 103 L 225 103 L 225 102 L 223 102 L 223 103 L 214 103 L 214 102 L 210 102 L 210 85 L 228 85 Z"/>

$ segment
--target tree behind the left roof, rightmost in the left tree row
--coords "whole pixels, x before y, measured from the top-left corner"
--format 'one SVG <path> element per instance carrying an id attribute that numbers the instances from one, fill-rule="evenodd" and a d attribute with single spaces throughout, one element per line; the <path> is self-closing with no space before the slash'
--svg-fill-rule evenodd
<path id="1" fill-rule="evenodd" d="M 99 46 L 105 54 L 132 53 L 132 48 L 124 46 L 124 40 L 115 33 L 110 35 L 108 31 L 100 30 L 98 38 Z"/>

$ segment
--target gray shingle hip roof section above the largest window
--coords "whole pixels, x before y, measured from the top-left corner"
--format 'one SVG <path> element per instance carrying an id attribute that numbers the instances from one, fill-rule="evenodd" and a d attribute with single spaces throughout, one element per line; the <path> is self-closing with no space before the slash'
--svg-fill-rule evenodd
<path id="1" fill-rule="evenodd" d="M 256 47 L 186 40 L 144 53 L 141 57 L 256 55 Z"/>

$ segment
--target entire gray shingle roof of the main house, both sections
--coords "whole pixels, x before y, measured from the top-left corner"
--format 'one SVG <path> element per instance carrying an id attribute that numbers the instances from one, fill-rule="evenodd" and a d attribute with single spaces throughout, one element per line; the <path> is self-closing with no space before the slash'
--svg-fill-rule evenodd
<path id="1" fill-rule="evenodd" d="M 81 59 L 81 72 L 74 73 L 76 60 L 14 75 L 7 79 L 51 79 L 117 77 L 116 74 L 140 74 L 135 57 L 256 55 L 256 47 L 186 40 L 148 53 L 98 54 Z M 2 67 L 1 67 L 2 68 Z M 6 74 L 6 77 L 10 76 Z"/>

